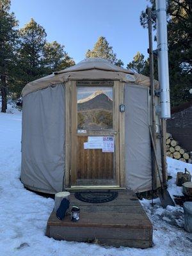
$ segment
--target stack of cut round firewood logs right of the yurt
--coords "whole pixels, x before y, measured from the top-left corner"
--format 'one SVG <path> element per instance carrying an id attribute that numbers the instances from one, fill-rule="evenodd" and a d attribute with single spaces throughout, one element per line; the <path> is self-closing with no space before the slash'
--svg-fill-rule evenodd
<path id="1" fill-rule="evenodd" d="M 166 156 L 188 162 L 189 154 L 179 145 L 179 142 L 173 140 L 172 134 L 166 132 Z"/>

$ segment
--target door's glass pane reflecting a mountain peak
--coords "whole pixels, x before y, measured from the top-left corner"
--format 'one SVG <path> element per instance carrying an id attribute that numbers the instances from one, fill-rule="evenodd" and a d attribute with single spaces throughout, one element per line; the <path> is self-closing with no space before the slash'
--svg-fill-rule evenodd
<path id="1" fill-rule="evenodd" d="M 88 86 L 78 86 L 77 99 L 79 99 L 77 100 L 77 129 L 100 130 L 113 128 L 112 87 L 90 88 Z"/>

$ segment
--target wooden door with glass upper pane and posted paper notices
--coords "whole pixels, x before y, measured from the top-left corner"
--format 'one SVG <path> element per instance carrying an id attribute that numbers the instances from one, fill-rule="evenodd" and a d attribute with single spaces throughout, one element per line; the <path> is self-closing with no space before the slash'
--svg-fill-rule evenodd
<path id="1" fill-rule="evenodd" d="M 71 91 L 71 187 L 120 186 L 118 84 L 77 81 Z"/>

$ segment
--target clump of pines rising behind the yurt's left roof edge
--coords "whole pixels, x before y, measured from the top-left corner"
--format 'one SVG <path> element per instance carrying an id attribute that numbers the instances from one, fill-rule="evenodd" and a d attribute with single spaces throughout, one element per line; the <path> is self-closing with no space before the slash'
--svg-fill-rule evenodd
<path id="1" fill-rule="evenodd" d="M 63 45 L 56 41 L 47 42 L 45 29 L 34 19 L 19 30 L 19 36 L 19 46 L 15 52 L 17 65 L 10 86 L 15 98 L 30 81 L 75 64 Z"/>

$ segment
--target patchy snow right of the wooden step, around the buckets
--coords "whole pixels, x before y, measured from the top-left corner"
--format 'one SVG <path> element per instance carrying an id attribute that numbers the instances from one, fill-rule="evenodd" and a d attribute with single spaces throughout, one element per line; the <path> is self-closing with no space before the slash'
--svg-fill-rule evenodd
<path id="1" fill-rule="evenodd" d="M 172 176 L 168 180 L 168 191 L 172 197 L 182 195 L 182 187 L 175 184 L 177 172 L 184 172 L 184 168 L 187 168 L 192 173 L 192 164 L 170 157 L 167 157 L 167 164 L 168 175 Z M 150 203 L 150 200 L 141 201 L 154 226 L 154 249 L 159 255 L 192 255 L 192 235 L 184 230 L 183 208 L 169 205 L 163 209 L 159 198 L 154 200 L 154 207 Z"/>

